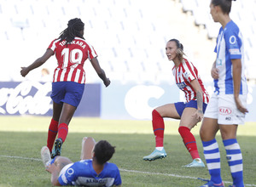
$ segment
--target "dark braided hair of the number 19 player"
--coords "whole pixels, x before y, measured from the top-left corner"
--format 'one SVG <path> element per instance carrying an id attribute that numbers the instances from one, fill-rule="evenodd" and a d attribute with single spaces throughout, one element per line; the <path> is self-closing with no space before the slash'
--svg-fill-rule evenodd
<path id="1" fill-rule="evenodd" d="M 73 20 L 69 20 L 67 23 L 67 29 L 61 31 L 61 41 L 66 40 L 68 42 L 72 42 L 74 37 L 84 37 L 81 35 L 80 31 L 84 30 L 84 23 L 79 18 L 75 18 Z"/>

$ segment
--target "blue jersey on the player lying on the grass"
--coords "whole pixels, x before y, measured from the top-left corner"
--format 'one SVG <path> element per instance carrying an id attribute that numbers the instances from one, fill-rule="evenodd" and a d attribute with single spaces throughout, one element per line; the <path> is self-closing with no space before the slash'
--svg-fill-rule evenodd
<path id="1" fill-rule="evenodd" d="M 61 185 L 108 187 L 122 183 L 119 168 L 113 163 L 106 162 L 99 174 L 93 169 L 91 159 L 74 162 L 62 170 L 58 178 Z"/>

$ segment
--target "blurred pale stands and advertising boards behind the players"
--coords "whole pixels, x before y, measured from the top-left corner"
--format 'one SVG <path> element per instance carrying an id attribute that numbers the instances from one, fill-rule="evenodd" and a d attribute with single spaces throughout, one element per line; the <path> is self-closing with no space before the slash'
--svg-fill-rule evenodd
<path id="1" fill-rule="evenodd" d="M 230 17 L 244 37 L 250 110 L 256 105 L 256 0 L 232 3 Z M 75 17 L 84 21 L 84 37 L 112 81 L 104 88 L 87 60 L 88 87 L 77 116 L 149 119 L 154 107 L 183 100 L 172 76 L 173 63 L 166 58 L 166 42 L 172 38 L 183 43 L 211 94 L 220 25 L 213 22 L 209 5 L 210 0 L 0 0 L 0 114 L 51 114 L 55 57 L 26 78 L 20 67 L 42 56 Z M 255 118 L 251 112 L 247 120 Z"/>

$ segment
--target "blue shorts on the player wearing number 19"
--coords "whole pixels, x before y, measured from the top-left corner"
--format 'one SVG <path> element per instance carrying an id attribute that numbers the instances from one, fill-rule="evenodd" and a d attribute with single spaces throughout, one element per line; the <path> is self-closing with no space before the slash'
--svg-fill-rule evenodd
<path id="1" fill-rule="evenodd" d="M 51 99 L 56 104 L 67 103 L 77 107 L 84 94 L 84 84 L 78 82 L 53 82 Z"/>

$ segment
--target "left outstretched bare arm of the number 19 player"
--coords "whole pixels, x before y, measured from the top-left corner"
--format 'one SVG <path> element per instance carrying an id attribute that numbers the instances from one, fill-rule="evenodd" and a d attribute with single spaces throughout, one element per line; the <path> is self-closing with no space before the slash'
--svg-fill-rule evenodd
<path id="1" fill-rule="evenodd" d="M 38 68 L 41 65 L 44 65 L 44 62 L 46 62 L 47 59 L 49 59 L 50 56 L 52 56 L 54 52 L 51 49 L 47 49 L 44 55 L 38 59 L 36 59 L 31 65 L 27 67 L 21 67 L 20 75 L 22 77 L 26 77 L 26 75 L 29 73 L 29 71 L 32 71 L 33 69 Z"/>

